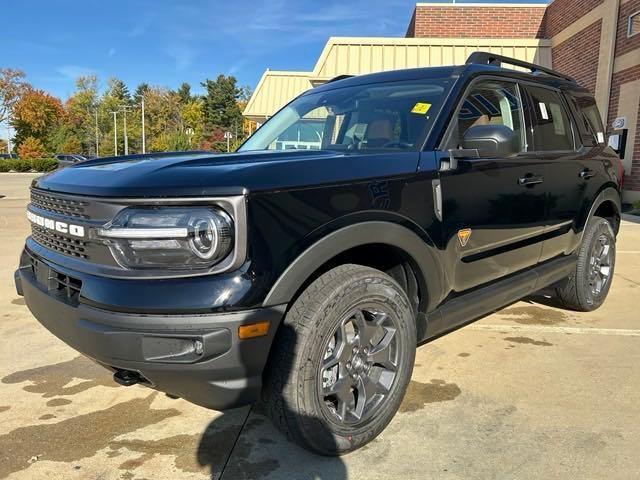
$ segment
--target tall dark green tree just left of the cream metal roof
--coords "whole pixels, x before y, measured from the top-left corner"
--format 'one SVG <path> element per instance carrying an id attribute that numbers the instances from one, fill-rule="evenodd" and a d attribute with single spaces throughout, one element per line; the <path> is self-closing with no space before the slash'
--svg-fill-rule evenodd
<path id="1" fill-rule="evenodd" d="M 218 75 L 216 80 L 205 80 L 204 120 L 208 129 L 214 126 L 227 130 L 242 126 L 242 112 L 238 106 L 241 90 L 233 76 Z"/>

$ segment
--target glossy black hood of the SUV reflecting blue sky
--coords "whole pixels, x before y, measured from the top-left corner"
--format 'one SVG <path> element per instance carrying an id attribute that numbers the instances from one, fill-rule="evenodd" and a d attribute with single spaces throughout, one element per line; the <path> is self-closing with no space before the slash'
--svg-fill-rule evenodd
<path id="1" fill-rule="evenodd" d="M 34 186 L 98 197 L 231 195 L 409 174 L 416 171 L 417 161 L 417 152 L 147 154 L 88 160 L 40 177 Z"/>

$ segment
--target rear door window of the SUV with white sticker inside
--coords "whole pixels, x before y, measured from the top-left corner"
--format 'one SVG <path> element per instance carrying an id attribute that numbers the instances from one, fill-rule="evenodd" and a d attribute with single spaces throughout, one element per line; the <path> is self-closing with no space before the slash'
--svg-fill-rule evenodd
<path id="1" fill-rule="evenodd" d="M 571 121 L 560 96 L 546 88 L 525 88 L 531 98 L 533 150 L 573 150 Z"/>

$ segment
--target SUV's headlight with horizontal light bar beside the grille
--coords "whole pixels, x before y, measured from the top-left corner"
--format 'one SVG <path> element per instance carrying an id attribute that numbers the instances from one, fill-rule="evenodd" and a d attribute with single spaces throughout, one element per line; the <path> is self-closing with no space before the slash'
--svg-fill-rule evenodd
<path id="1" fill-rule="evenodd" d="M 127 208 L 98 236 L 125 268 L 210 268 L 233 249 L 233 221 L 209 207 Z"/>

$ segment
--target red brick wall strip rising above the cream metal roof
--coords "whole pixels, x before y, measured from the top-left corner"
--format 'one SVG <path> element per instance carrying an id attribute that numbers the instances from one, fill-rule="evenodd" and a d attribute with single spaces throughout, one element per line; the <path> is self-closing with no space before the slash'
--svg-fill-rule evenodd
<path id="1" fill-rule="evenodd" d="M 544 6 L 451 7 L 418 5 L 407 37 L 540 38 Z"/>

